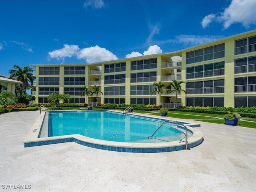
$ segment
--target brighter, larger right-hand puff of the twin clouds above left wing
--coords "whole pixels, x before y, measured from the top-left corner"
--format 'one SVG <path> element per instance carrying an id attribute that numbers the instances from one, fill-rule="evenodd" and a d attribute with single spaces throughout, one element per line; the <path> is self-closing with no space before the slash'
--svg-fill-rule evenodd
<path id="1" fill-rule="evenodd" d="M 99 47 L 98 45 L 94 47 L 83 48 L 78 52 L 78 59 L 84 59 L 87 63 L 95 63 L 102 61 L 116 60 L 118 57 L 114 55 L 109 50 Z"/>

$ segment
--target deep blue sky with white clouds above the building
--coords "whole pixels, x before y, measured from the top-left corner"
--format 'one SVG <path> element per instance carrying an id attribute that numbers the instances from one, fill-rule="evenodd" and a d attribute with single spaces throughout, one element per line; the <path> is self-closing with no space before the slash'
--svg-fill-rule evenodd
<path id="1" fill-rule="evenodd" d="M 254 30 L 256 0 L 0 1 L 0 74 L 181 50 Z"/>

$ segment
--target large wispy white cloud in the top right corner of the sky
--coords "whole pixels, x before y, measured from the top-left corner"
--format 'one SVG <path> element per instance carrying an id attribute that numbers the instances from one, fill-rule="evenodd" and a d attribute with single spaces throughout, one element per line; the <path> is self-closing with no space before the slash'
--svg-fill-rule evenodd
<path id="1" fill-rule="evenodd" d="M 234 23 L 241 23 L 244 27 L 249 28 L 251 24 L 256 25 L 255 10 L 255 0 L 232 0 L 224 12 L 205 16 L 201 24 L 203 28 L 206 28 L 215 19 L 217 22 L 223 23 L 224 29 Z"/>

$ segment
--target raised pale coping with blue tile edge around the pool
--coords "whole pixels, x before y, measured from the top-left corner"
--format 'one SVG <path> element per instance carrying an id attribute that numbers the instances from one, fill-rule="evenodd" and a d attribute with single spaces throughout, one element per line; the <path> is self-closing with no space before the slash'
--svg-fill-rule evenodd
<path id="1" fill-rule="evenodd" d="M 105 110 L 105 111 L 122 113 L 116 110 Z M 24 147 L 41 146 L 41 145 L 57 144 L 57 143 L 64 143 L 64 142 L 76 142 L 77 144 L 81 144 L 81 145 L 92 147 L 92 148 L 118 151 L 118 152 L 136 152 L 136 153 L 170 152 L 170 151 L 176 151 L 176 150 L 184 150 L 186 148 L 185 138 L 177 141 L 159 142 L 159 143 L 158 142 L 152 142 L 152 143 L 114 142 L 114 141 L 106 141 L 106 140 L 89 138 L 86 136 L 82 136 L 80 134 L 38 138 L 45 114 L 46 112 L 42 112 L 38 117 L 38 119 L 36 120 L 36 123 L 34 124 L 32 129 L 28 133 L 26 139 L 24 140 Z M 172 120 L 169 117 L 158 117 L 150 114 L 128 113 L 126 115 L 150 117 L 150 118 L 165 120 L 168 122 L 178 122 L 178 121 Z M 203 142 L 203 134 L 202 132 L 194 128 L 194 127 L 200 126 L 200 124 L 185 122 L 183 120 L 182 122 L 186 123 L 186 126 L 188 127 L 188 131 L 193 133 L 192 136 L 188 137 L 188 148 L 192 148 L 201 144 Z M 179 127 L 182 128 L 182 126 L 179 126 Z"/>

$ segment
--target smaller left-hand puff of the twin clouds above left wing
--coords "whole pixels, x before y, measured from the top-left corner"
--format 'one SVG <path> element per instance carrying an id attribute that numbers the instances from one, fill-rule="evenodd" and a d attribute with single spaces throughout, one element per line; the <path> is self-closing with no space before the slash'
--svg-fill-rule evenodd
<path id="1" fill-rule="evenodd" d="M 67 45 L 64 44 L 64 48 L 53 50 L 52 52 L 48 52 L 50 55 L 50 58 L 54 58 L 57 60 L 69 57 L 71 58 L 72 56 L 75 56 L 77 52 L 79 51 L 78 45 Z"/>

